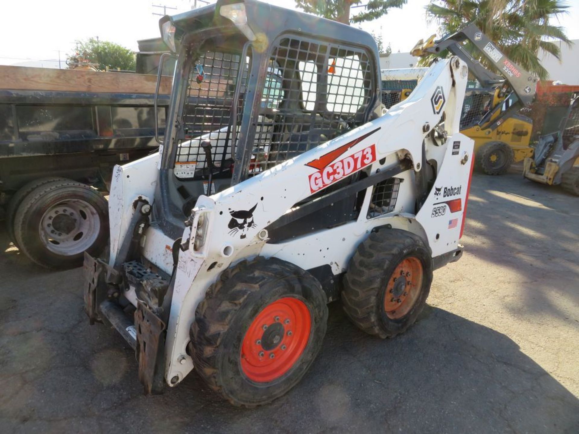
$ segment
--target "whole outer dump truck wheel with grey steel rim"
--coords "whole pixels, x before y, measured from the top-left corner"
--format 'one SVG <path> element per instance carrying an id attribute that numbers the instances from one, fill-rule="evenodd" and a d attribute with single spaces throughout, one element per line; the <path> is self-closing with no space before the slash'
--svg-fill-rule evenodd
<path id="1" fill-rule="evenodd" d="M 20 204 L 14 235 L 21 251 L 43 267 L 81 266 L 83 252 L 98 256 L 107 244 L 107 201 L 80 182 L 46 183 Z"/>

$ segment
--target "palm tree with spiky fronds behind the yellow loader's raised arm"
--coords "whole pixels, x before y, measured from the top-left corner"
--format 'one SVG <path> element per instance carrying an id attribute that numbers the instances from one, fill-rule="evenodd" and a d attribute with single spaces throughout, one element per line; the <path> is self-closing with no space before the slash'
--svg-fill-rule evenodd
<path id="1" fill-rule="evenodd" d="M 543 49 L 559 58 L 556 41 L 570 45 L 565 30 L 552 24 L 567 13 L 567 7 L 563 0 L 433 0 L 426 10 L 431 19 L 438 21 L 441 34 L 456 32 L 474 21 L 508 57 L 540 79 L 546 79 L 549 74 L 537 53 Z M 475 58 L 480 57 L 470 44 L 465 49 Z M 421 63 L 428 61 L 424 58 Z M 490 66 L 486 59 L 481 61 Z"/>

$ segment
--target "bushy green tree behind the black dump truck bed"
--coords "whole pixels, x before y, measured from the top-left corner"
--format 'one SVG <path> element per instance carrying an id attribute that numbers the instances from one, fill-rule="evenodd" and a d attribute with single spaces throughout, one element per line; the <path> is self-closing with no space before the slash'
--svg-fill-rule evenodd
<path id="1" fill-rule="evenodd" d="M 69 62 L 75 62 L 78 57 L 98 64 L 98 69 L 135 70 L 135 53 L 114 42 L 99 41 L 98 38 L 89 38 L 86 41 L 76 41 L 76 53 L 68 56 Z"/>

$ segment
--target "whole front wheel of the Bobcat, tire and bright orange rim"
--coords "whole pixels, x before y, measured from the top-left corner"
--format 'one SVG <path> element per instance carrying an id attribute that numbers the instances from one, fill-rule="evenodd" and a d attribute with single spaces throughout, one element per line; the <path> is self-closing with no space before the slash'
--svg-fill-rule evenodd
<path id="1" fill-rule="evenodd" d="M 306 271 L 258 258 L 226 270 L 191 325 L 193 362 L 207 384 L 237 406 L 284 395 L 320 351 L 326 297 Z"/>

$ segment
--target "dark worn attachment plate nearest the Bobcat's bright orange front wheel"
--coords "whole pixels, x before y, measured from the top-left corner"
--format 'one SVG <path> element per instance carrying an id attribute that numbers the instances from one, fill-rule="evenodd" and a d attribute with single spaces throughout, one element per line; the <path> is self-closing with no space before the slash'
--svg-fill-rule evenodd
<path id="1" fill-rule="evenodd" d="M 139 362 L 139 380 L 147 395 L 160 393 L 164 384 L 164 332 L 167 326 L 144 303 L 138 301 L 135 328 L 137 329 L 135 354 Z"/>

